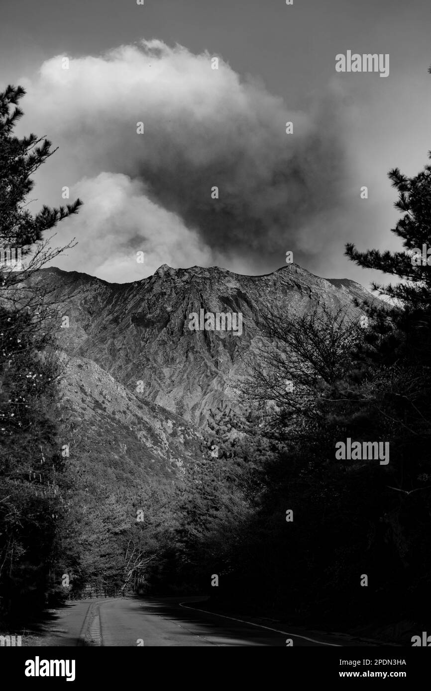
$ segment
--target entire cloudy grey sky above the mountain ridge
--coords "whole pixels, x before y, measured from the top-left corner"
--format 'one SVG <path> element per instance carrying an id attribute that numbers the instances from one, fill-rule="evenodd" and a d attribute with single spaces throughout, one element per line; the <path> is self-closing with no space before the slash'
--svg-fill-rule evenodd
<path id="1" fill-rule="evenodd" d="M 84 201 L 54 264 L 124 283 L 162 264 L 265 274 L 289 251 L 387 281 L 345 243 L 401 249 L 387 172 L 427 162 L 430 35 L 429 0 L 2 0 L 17 133 L 58 146 L 30 207 Z M 337 72 L 348 50 L 388 54 L 389 75 Z"/>

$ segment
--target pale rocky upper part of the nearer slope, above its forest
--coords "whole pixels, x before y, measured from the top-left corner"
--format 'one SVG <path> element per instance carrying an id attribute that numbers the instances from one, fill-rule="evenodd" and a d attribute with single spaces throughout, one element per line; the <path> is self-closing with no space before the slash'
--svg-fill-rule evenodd
<path id="1" fill-rule="evenodd" d="M 164 480 L 175 480 L 178 468 L 202 457 L 199 430 L 178 415 L 140 400 L 91 359 L 62 352 L 60 363 L 59 415 L 81 464 L 88 456 L 94 468 L 100 449 L 100 475 L 117 464 L 139 480 L 155 463 Z"/>

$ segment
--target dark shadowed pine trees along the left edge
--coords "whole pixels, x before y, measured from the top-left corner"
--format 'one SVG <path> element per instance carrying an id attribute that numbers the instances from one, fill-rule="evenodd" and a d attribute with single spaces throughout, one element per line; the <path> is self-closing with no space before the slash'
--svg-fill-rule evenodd
<path id="1" fill-rule="evenodd" d="M 24 93 L 0 93 L 0 615 L 14 621 L 45 605 L 56 589 L 53 570 L 63 556 L 74 558 L 56 422 L 58 315 L 48 290 L 29 279 L 62 251 L 46 234 L 81 204 L 28 208 L 32 176 L 54 152 L 46 138 L 14 135 Z"/>

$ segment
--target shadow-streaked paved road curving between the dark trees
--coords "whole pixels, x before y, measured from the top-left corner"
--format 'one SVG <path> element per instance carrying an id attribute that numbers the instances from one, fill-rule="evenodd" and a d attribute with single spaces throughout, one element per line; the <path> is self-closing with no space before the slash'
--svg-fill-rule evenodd
<path id="1" fill-rule="evenodd" d="M 245 616 L 217 616 L 199 611 L 205 598 L 111 598 L 86 600 L 59 610 L 42 645 L 102 646 L 282 646 L 355 645 L 335 635 L 302 631 Z M 277 631 L 277 628 L 280 630 Z M 357 643 L 356 643 L 357 645 Z"/>

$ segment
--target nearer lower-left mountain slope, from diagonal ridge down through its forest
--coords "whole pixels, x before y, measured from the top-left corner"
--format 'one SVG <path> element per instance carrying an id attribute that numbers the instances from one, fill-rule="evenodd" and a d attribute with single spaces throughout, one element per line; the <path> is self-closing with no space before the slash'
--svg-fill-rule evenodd
<path id="1" fill-rule="evenodd" d="M 59 424 L 69 446 L 78 573 L 99 585 L 120 583 L 137 509 L 145 522 L 162 522 L 205 445 L 199 430 L 140 401 L 95 362 L 65 353 L 60 362 Z"/>

